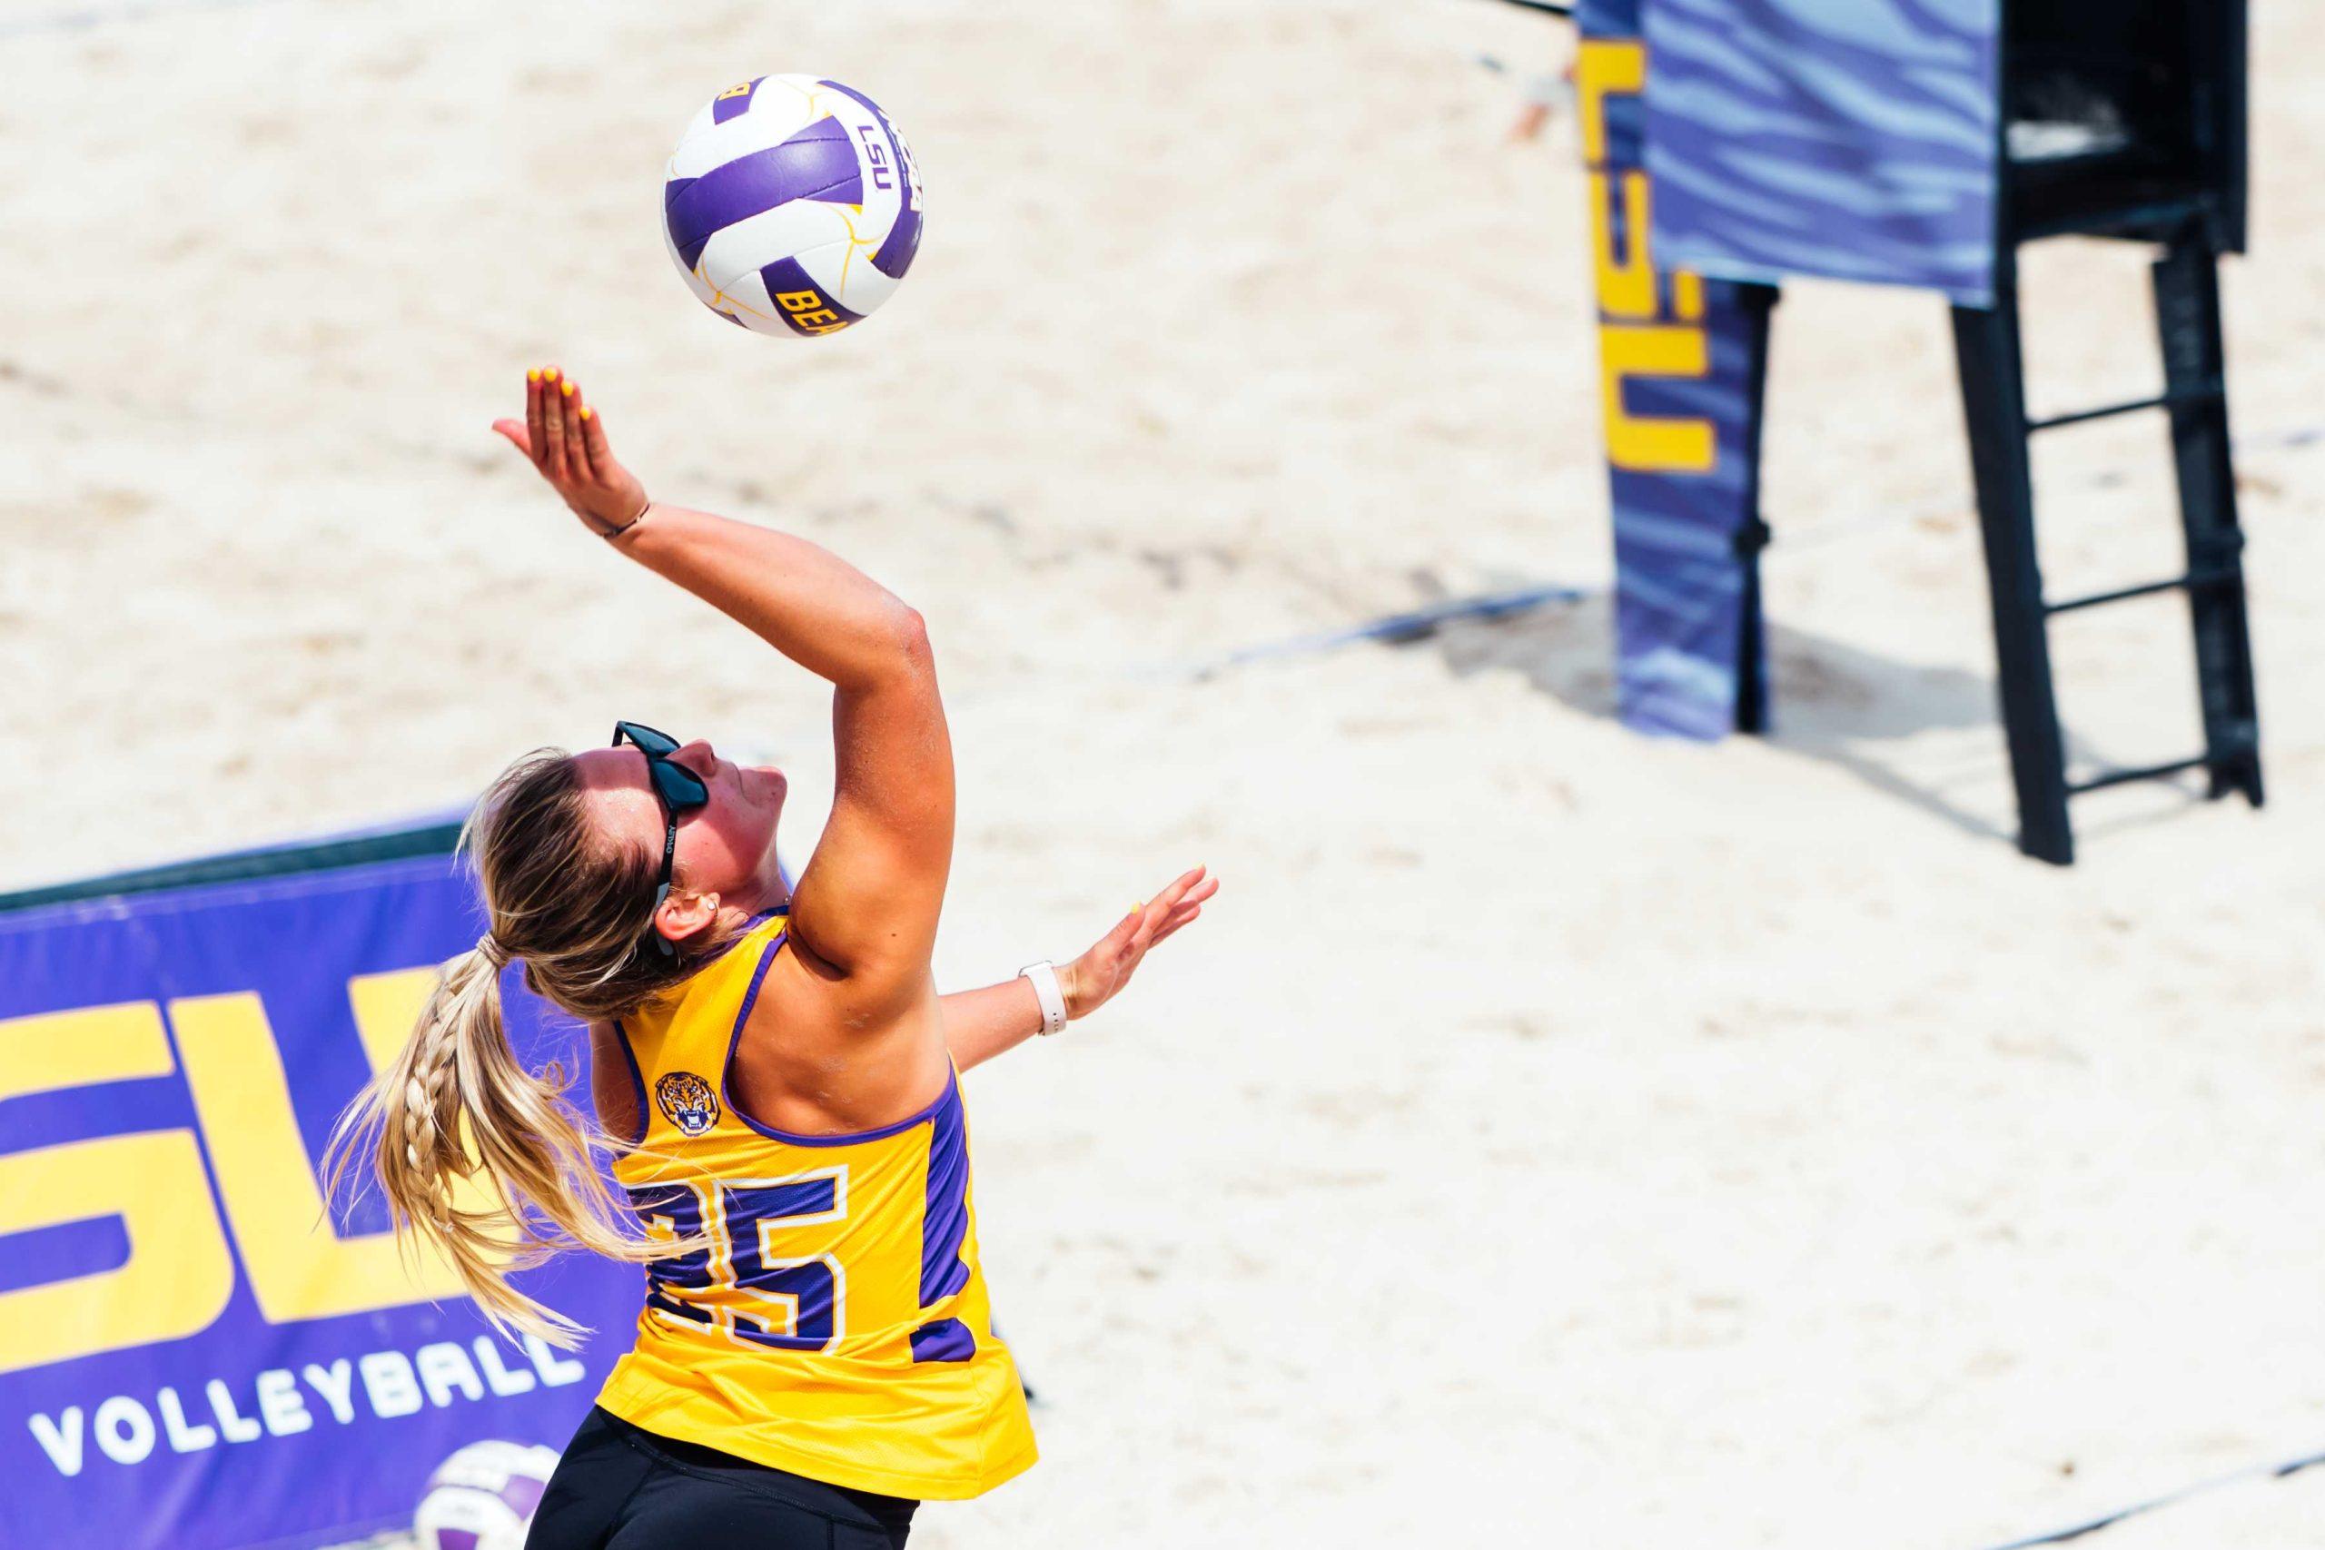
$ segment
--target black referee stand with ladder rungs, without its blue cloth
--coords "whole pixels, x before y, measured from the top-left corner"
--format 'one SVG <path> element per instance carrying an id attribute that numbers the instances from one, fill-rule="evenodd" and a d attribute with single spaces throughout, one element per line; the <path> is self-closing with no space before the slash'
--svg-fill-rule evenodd
<path id="1" fill-rule="evenodd" d="M 2069 864 L 2067 804 L 2083 792 L 2202 769 L 2213 799 L 2262 799 L 2218 274 L 2220 256 L 2241 253 L 2246 235 L 2246 5 L 2004 0 L 2002 23 L 1995 307 L 1955 307 L 1953 342 L 1995 604 L 2018 848 Z M 2018 246 L 2062 235 L 2160 249 L 2153 279 L 2165 388 L 2034 421 L 2018 337 Z M 2144 586 L 2053 597 L 2034 548 L 2030 442 L 2139 411 L 2162 411 L 2172 425 L 2188 567 Z M 2051 620 L 2172 590 L 2188 595 L 2195 625 L 2204 748 L 2069 778 Z"/>

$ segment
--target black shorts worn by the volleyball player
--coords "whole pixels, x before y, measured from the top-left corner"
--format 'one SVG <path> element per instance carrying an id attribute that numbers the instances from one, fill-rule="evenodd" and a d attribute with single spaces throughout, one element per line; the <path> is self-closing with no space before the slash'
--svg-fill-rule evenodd
<path id="1" fill-rule="evenodd" d="M 902 1550 L 918 1501 L 825 1485 L 593 1408 L 525 1550 Z"/>

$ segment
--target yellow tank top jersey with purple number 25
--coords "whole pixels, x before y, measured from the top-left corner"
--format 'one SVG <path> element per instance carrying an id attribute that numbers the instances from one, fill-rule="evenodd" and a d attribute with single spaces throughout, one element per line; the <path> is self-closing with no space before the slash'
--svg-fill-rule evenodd
<path id="1" fill-rule="evenodd" d="M 786 925 L 618 1025 L 646 1132 L 614 1176 L 646 1232 L 707 1246 L 646 1266 L 637 1348 L 598 1404 L 830 1485 L 977 1497 L 1035 1445 L 977 1264 L 960 1078 L 849 1136 L 735 1113 L 728 1060 Z"/>

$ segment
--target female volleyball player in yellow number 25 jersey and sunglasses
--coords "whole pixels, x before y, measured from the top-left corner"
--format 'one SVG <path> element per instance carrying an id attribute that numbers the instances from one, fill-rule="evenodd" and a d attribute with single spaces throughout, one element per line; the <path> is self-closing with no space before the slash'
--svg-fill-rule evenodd
<path id="1" fill-rule="evenodd" d="M 646 1264 L 637 1346 L 532 1550 L 902 1545 L 921 1499 L 1035 1457 L 977 1264 L 956 1071 L 1102 1006 L 1216 883 L 1197 867 L 1074 962 L 939 997 L 953 755 L 918 613 L 814 544 L 649 502 L 556 367 L 495 430 L 614 551 L 832 683 L 832 816 L 793 892 L 777 769 L 635 723 L 518 760 L 465 837 L 491 930 L 356 1118 L 379 1127 L 398 1229 L 505 1325 L 572 1334 L 514 1264 L 565 1246 Z M 591 1025 L 637 1225 L 595 1132 L 509 1050 L 512 962 Z"/>

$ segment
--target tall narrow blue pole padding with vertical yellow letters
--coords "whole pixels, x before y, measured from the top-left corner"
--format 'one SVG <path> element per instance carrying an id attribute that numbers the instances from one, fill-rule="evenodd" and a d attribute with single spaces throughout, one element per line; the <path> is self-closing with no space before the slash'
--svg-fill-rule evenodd
<path id="1" fill-rule="evenodd" d="M 1660 5 L 1660 0 L 1648 0 Z M 1623 723 L 1718 739 L 1755 730 L 1758 455 L 1765 286 L 1669 270 L 1655 251 L 1641 0 L 1583 0 L 1576 88 L 1600 309 L 1600 400 L 1614 495 Z"/>

